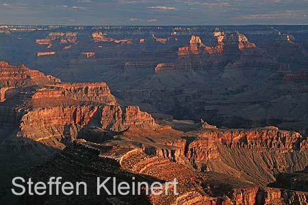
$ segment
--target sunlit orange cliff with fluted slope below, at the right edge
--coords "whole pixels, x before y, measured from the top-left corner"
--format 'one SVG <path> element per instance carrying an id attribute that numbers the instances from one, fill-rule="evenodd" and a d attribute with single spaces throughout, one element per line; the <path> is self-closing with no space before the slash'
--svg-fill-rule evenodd
<path id="1" fill-rule="evenodd" d="M 294 172 L 307 166 L 307 152 L 300 150 L 303 137 L 299 133 L 263 128 L 202 131 L 196 137 L 183 154 L 199 170 L 207 167 L 208 171 L 267 184 L 277 172 Z"/>

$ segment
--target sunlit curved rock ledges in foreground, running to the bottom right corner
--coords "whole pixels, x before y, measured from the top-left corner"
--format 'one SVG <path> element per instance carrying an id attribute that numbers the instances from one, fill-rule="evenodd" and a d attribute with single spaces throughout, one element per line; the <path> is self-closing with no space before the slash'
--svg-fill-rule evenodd
<path id="1" fill-rule="evenodd" d="M 130 172 L 160 180 L 172 181 L 177 178 L 179 195 L 151 195 L 153 204 L 306 204 L 308 197 L 305 192 L 261 188 L 213 172 L 201 175 L 183 165 L 144 154 L 138 148 L 123 154 L 120 165 Z M 172 190 L 172 187 L 169 188 Z"/>

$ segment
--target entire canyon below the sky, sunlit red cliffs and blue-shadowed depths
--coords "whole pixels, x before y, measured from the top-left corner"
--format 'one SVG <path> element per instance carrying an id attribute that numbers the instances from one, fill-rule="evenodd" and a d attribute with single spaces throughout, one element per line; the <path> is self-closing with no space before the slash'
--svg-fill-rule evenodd
<path id="1" fill-rule="evenodd" d="M 0 31 L 1 204 L 308 203 L 308 27 Z M 89 194 L 15 198 L 19 174 Z M 179 195 L 95 195 L 107 176 Z"/>

